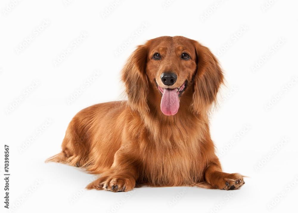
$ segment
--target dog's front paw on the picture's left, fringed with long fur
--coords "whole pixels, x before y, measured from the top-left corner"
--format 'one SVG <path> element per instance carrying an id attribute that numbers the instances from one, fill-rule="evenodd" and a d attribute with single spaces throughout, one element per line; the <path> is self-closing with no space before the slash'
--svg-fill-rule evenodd
<path id="1" fill-rule="evenodd" d="M 107 190 L 111 192 L 128 192 L 134 189 L 136 181 L 131 178 L 99 178 L 90 183 L 86 189 Z"/>

